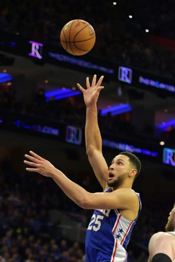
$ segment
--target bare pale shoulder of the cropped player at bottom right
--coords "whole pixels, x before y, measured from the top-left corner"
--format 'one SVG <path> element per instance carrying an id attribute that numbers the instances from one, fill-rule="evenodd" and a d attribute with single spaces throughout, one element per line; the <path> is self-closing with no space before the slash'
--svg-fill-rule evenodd
<path id="1" fill-rule="evenodd" d="M 148 251 L 149 259 L 148 262 L 152 260 L 152 257 L 156 254 L 163 253 L 168 255 L 173 260 L 172 253 L 172 236 L 165 232 L 158 232 L 151 236 Z"/>

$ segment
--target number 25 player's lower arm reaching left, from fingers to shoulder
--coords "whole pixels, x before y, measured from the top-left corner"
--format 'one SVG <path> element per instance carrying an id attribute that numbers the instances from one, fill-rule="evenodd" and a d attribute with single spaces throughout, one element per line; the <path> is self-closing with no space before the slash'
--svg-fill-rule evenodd
<path id="1" fill-rule="evenodd" d="M 77 205 L 86 209 L 138 209 L 138 198 L 133 190 L 122 188 L 111 193 L 90 193 L 68 179 L 62 171 L 56 169 L 48 160 L 36 155 L 32 151 L 30 151 L 30 154 L 32 156 L 25 155 L 30 161 L 25 160 L 24 163 L 32 166 L 32 168 L 27 167 L 26 170 L 51 177 Z"/>

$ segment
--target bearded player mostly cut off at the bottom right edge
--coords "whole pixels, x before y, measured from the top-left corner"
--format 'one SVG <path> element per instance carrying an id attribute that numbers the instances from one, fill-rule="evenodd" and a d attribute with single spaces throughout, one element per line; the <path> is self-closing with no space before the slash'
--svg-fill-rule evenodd
<path id="1" fill-rule="evenodd" d="M 148 262 L 175 262 L 175 204 L 169 213 L 165 231 L 151 236 Z"/>

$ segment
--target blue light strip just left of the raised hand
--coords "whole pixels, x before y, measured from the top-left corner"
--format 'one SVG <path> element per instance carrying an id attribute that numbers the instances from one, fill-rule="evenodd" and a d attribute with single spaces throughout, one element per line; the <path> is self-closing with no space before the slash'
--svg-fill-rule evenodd
<path id="1" fill-rule="evenodd" d="M 76 96 L 76 95 L 80 95 L 81 92 L 80 91 L 73 91 L 71 89 L 57 89 L 54 91 L 47 91 L 45 93 L 46 96 L 46 101 L 48 102 L 50 97 L 54 96 L 55 100 L 59 100 L 59 99 L 63 99 L 66 97 L 71 97 L 71 96 Z"/>

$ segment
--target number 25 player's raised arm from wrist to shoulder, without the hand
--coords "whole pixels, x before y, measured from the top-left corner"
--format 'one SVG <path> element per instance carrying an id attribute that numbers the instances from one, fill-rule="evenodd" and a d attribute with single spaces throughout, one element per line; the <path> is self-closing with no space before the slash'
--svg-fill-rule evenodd
<path id="1" fill-rule="evenodd" d="M 105 189 L 108 179 L 108 166 L 102 154 L 102 138 L 98 125 L 96 104 L 86 108 L 85 141 L 89 162 L 96 178 Z"/>

